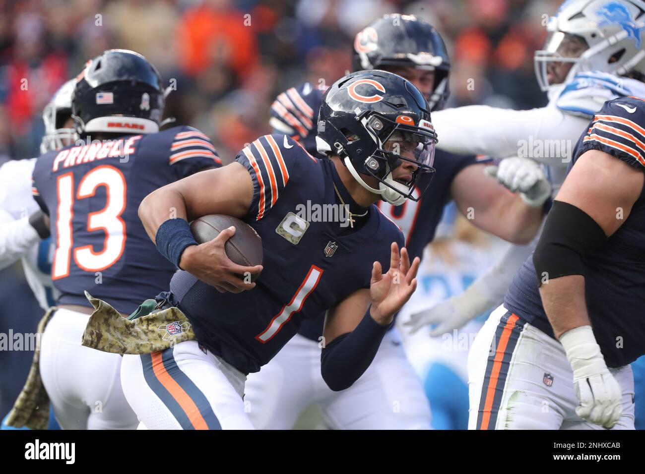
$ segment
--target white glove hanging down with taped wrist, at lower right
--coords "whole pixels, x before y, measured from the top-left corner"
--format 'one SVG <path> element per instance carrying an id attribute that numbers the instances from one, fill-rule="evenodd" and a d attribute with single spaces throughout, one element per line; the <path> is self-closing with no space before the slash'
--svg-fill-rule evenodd
<path id="1" fill-rule="evenodd" d="M 611 428 L 622 413 L 622 391 L 605 364 L 591 326 L 566 331 L 560 342 L 573 369 L 573 387 L 579 400 L 575 413 L 588 422 Z"/>

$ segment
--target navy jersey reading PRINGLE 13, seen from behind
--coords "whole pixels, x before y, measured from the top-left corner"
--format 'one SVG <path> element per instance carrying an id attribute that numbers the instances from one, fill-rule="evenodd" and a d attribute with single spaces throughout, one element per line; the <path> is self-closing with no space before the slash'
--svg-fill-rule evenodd
<path id="1" fill-rule="evenodd" d="M 157 188 L 219 164 L 210 139 L 188 126 L 39 157 L 33 191 L 52 222 L 58 304 L 88 306 L 86 290 L 130 313 L 167 288 L 176 268 L 146 235 L 139 204 Z"/>

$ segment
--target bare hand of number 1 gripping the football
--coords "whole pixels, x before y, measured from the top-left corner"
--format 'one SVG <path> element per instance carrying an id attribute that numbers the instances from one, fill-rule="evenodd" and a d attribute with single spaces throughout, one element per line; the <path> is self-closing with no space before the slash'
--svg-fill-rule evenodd
<path id="1" fill-rule="evenodd" d="M 245 282 L 239 275 L 256 275 L 262 272 L 262 265 L 242 266 L 232 262 L 224 252 L 224 244 L 235 234 L 235 228 L 229 227 L 212 241 L 186 247 L 181 254 L 179 267 L 195 275 L 204 283 L 214 286 L 221 293 L 241 293 L 255 288 L 255 282 Z M 235 275 L 237 273 L 237 275 Z"/>

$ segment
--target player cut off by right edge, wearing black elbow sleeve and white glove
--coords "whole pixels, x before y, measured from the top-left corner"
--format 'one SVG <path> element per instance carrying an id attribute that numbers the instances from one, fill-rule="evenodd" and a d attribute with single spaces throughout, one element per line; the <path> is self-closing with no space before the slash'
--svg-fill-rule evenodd
<path id="1" fill-rule="evenodd" d="M 469 428 L 634 428 L 645 353 L 645 102 L 608 101 L 579 140 L 532 258 L 468 357 Z"/>

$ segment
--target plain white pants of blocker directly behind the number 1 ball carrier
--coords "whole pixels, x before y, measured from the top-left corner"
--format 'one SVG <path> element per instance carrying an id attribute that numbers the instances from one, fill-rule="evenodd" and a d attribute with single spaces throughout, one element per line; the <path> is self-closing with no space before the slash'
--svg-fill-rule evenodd
<path id="1" fill-rule="evenodd" d="M 318 342 L 297 334 L 261 371 L 248 375 L 244 400 L 261 430 L 292 428 L 312 403 L 336 430 L 430 429 L 430 405 L 397 330 L 388 331 L 370 367 L 342 391 L 323 380 Z"/>

